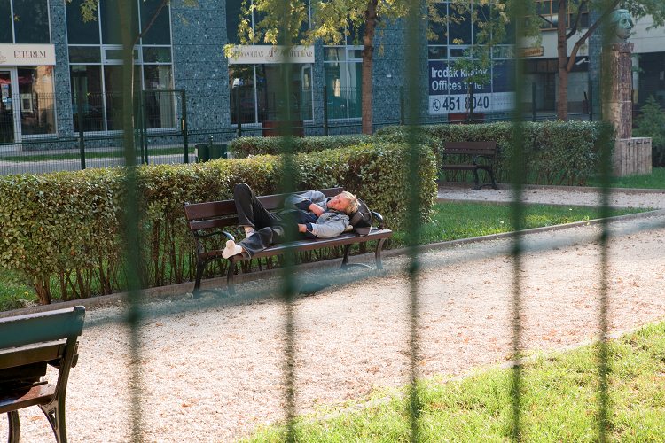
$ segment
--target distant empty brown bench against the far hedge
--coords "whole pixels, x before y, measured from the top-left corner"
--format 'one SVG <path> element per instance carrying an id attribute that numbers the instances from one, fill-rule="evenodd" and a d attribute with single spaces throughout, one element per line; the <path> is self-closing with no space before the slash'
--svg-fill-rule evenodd
<path id="1" fill-rule="evenodd" d="M 491 185 L 497 190 L 497 181 L 494 177 L 494 163 L 497 159 L 497 142 L 446 142 L 442 152 L 443 170 L 473 171 L 475 186 L 480 190 L 482 186 Z M 445 159 L 443 159 L 445 158 Z M 450 160 L 452 158 L 452 160 Z M 456 161 L 452 163 L 452 161 Z M 448 163 L 446 163 L 448 162 Z M 489 174 L 491 183 L 480 183 L 478 170 Z"/>

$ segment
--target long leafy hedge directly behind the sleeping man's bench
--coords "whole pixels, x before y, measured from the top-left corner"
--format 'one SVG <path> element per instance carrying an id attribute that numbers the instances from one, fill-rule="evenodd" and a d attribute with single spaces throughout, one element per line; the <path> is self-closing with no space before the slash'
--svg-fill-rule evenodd
<path id="1" fill-rule="evenodd" d="M 426 221 L 436 196 L 436 163 L 434 152 L 426 148 L 419 158 L 419 215 Z M 405 192 L 416 184 L 405 170 L 407 159 L 403 144 L 299 154 L 294 157 L 294 187 L 343 185 L 384 214 L 390 228 L 399 229 L 406 220 Z M 280 164 L 279 157 L 257 156 L 138 167 L 138 226 L 124 225 L 123 169 L 2 177 L 0 266 L 25 275 L 43 303 L 54 292 L 62 299 L 78 299 L 121 291 L 126 287 L 123 233 L 138 229 L 144 287 L 191 280 L 195 259 L 184 202 L 231 198 L 233 184 L 240 182 L 259 194 L 275 193 Z"/>

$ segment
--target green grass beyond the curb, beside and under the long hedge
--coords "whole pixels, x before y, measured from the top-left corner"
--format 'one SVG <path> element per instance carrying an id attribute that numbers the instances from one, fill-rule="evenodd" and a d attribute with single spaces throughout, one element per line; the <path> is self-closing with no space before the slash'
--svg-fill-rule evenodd
<path id="1" fill-rule="evenodd" d="M 587 221 L 598 218 L 597 210 L 578 206 L 528 205 L 527 228 L 552 226 L 573 221 Z M 613 215 L 630 214 L 645 209 L 614 210 Z M 489 234 L 509 232 L 512 229 L 510 207 L 488 203 L 437 203 L 434 205 L 433 220 L 423 227 L 419 244 L 425 245 L 459 238 L 480 237 Z M 406 233 L 396 231 L 391 247 L 406 245 Z M 57 291 L 58 284 L 51 287 Z M 54 298 L 58 294 L 54 293 Z M 11 271 L 0 269 L 0 310 L 15 309 L 23 303 L 20 300 L 36 301 L 35 291 L 29 282 Z"/>

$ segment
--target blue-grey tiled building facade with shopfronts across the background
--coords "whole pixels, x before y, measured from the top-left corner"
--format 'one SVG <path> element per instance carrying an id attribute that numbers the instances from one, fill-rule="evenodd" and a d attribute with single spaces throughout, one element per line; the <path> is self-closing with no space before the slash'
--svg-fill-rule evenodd
<path id="1" fill-rule="evenodd" d="M 525 97 L 534 97 L 538 112 L 556 105 L 556 32 L 554 0 L 541 0 L 544 20 L 542 51 L 528 55 Z M 0 144 L 48 139 L 74 139 L 118 133 L 121 120 L 121 18 L 118 0 L 100 0 L 93 20 L 82 19 L 82 0 L 0 0 Z M 184 91 L 192 141 L 208 134 L 231 138 L 240 124 L 245 133 L 260 134 L 279 110 L 290 110 L 310 134 L 360 128 L 362 46 L 352 35 L 346 44 L 317 43 L 293 59 L 288 76 L 290 97 L 281 97 L 278 82 L 283 64 L 259 58 L 254 51 L 238 58 L 224 56 L 226 43 L 237 43 L 240 0 L 136 0 L 129 25 L 136 36 L 137 88 L 145 90 L 145 127 L 149 133 L 181 129 L 184 106 L 174 90 Z M 547 11 L 547 8 L 550 11 Z M 456 13 L 447 1 L 442 14 Z M 482 15 L 482 14 L 481 14 Z M 250 17 L 254 23 L 254 17 Z M 587 19 L 588 21 L 588 19 Z M 586 23 L 583 23 L 583 26 Z M 634 80 L 636 103 L 650 95 L 665 105 L 665 30 L 637 22 Z M 425 120 L 456 120 L 471 104 L 485 119 L 501 117 L 513 106 L 511 73 L 514 51 L 499 44 L 491 53 L 489 81 L 469 81 L 473 72 L 458 68 L 476 43 L 477 24 L 469 15 L 458 23 L 437 25 L 437 38 L 423 33 L 423 94 Z M 353 33 L 351 33 L 353 34 Z M 376 36 L 373 66 L 375 126 L 400 121 L 403 89 L 403 24 L 382 23 Z M 571 43 L 572 44 L 572 43 Z M 254 52 L 254 53 L 252 53 Z M 572 113 L 586 112 L 589 92 L 587 49 L 583 48 L 570 76 Z M 197 138 L 198 137 L 198 138 Z M 59 144 L 60 146 L 62 144 Z"/>

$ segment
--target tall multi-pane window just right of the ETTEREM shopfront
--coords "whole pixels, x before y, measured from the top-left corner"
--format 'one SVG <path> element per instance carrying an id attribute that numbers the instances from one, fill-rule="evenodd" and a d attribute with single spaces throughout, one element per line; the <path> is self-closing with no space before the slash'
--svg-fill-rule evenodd
<path id="1" fill-rule="evenodd" d="M 73 0 L 66 5 L 74 131 L 79 130 L 76 116 L 79 85 L 83 90 L 83 130 L 118 130 L 122 128 L 122 47 L 118 0 L 101 0 L 98 18 L 93 22 L 82 21 L 81 3 L 82 0 Z M 136 17 L 131 25 L 132 35 L 139 35 L 139 23 L 142 29 L 152 23 L 144 35 L 137 38 L 134 50 L 134 78 L 137 87 L 143 91 L 146 126 L 150 129 L 174 128 L 176 103 L 172 92 L 168 4 L 163 4 L 162 0 L 137 0 L 132 7 Z"/>

